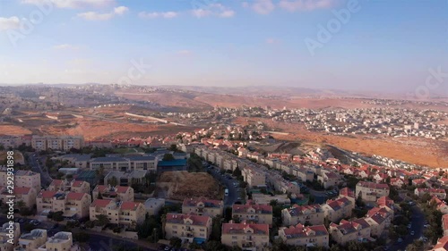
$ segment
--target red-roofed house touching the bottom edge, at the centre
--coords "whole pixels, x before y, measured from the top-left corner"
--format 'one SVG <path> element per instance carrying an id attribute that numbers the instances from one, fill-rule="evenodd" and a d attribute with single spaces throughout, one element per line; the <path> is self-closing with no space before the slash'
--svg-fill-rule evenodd
<path id="1" fill-rule="evenodd" d="M 221 243 L 228 247 L 241 247 L 243 250 L 268 250 L 269 225 L 249 222 L 222 224 Z"/>

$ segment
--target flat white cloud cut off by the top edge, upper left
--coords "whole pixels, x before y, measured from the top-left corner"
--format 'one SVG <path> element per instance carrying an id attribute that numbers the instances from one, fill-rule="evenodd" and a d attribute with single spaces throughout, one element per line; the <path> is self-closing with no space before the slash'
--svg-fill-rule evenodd
<path id="1" fill-rule="evenodd" d="M 105 7 L 115 4 L 114 0 L 22 0 L 22 4 L 53 4 L 56 8 Z"/>

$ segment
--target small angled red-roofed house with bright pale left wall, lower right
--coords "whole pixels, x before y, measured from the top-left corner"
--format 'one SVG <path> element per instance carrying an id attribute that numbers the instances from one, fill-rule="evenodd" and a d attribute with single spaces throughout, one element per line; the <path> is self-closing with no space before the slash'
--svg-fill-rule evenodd
<path id="1" fill-rule="evenodd" d="M 326 204 L 322 205 L 323 213 L 330 222 L 339 222 L 340 219 L 350 217 L 353 208 L 355 204 L 346 197 L 327 200 Z"/>

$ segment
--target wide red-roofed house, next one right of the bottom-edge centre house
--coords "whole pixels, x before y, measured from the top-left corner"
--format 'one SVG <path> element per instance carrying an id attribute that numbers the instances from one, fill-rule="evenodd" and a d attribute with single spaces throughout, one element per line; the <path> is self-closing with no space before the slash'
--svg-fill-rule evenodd
<path id="1" fill-rule="evenodd" d="M 279 229 L 279 237 L 287 245 L 306 247 L 329 247 L 330 235 L 324 225 L 296 226 Z"/>

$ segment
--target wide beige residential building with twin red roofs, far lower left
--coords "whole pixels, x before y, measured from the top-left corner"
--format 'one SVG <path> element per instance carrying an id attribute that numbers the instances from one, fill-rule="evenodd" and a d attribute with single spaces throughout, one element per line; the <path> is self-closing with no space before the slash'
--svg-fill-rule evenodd
<path id="1" fill-rule="evenodd" d="M 63 216 L 81 219 L 89 216 L 91 196 L 86 193 L 40 191 L 36 204 L 38 213 L 64 212 Z"/>

